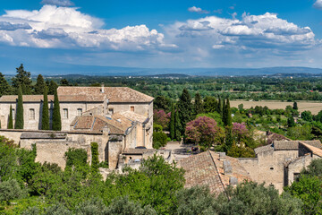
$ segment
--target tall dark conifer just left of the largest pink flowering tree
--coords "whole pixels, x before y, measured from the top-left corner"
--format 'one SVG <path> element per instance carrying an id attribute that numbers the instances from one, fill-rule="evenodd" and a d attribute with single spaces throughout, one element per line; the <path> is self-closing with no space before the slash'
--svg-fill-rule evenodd
<path id="1" fill-rule="evenodd" d="M 184 133 L 185 125 L 191 121 L 192 116 L 192 103 L 191 103 L 191 95 L 187 89 L 182 90 L 182 95 L 178 102 L 178 109 L 180 123 L 181 123 L 181 133 Z"/>

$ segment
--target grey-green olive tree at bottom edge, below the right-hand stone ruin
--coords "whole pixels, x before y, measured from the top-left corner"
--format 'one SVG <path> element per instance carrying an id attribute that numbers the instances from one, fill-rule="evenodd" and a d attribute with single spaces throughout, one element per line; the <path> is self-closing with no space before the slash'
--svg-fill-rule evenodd
<path id="1" fill-rule="evenodd" d="M 227 198 L 228 197 L 228 198 Z M 228 187 L 216 199 L 216 212 L 228 214 L 301 214 L 301 200 L 290 194 L 279 195 L 273 186 L 242 182 Z"/>

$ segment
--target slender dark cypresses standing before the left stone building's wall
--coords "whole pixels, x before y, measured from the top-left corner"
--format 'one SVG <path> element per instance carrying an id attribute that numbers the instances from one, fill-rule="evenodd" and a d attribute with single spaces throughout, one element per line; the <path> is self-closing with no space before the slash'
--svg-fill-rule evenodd
<path id="1" fill-rule="evenodd" d="M 21 86 L 18 89 L 18 103 L 15 116 L 14 129 L 23 129 L 24 120 L 23 120 L 23 100 L 22 100 L 22 90 Z M 8 129 L 13 129 L 13 107 L 10 106 L 9 120 L 8 120 Z M 44 102 L 42 107 L 42 117 L 41 117 L 41 130 L 49 130 L 49 109 L 48 109 L 48 89 L 47 86 L 44 87 Z M 62 121 L 60 115 L 60 106 L 57 95 L 57 89 L 54 91 L 54 109 L 53 109 L 53 130 L 61 131 L 62 130 Z"/>

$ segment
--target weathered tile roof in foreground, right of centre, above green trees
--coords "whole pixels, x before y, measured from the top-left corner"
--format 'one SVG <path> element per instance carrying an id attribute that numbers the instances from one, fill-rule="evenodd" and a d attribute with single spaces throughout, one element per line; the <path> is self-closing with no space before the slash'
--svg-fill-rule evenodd
<path id="1" fill-rule="evenodd" d="M 250 175 L 242 168 L 238 159 L 225 156 L 225 160 L 230 162 L 233 169 L 231 176 L 236 177 L 238 182 L 244 179 L 250 180 Z M 208 150 L 187 159 L 181 159 L 178 165 L 186 171 L 184 174 L 185 187 L 208 185 L 210 192 L 218 195 L 225 191 L 225 186 L 229 185 L 231 176 L 224 174 L 224 161 L 219 160 L 219 154 L 214 151 Z"/>

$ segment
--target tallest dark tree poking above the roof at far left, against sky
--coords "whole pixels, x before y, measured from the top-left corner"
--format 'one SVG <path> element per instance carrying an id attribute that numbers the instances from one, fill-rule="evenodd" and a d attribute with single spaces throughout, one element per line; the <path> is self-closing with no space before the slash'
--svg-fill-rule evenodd
<path id="1" fill-rule="evenodd" d="M 19 90 L 21 87 L 21 91 L 23 95 L 31 94 L 31 80 L 30 80 L 30 72 L 27 72 L 23 68 L 23 64 L 21 64 L 18 68 L 16 68 L 17 74 L 13 77 L 13 87 L 15 90 Z"/>

